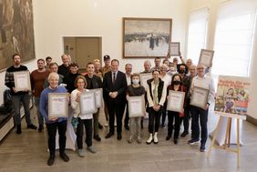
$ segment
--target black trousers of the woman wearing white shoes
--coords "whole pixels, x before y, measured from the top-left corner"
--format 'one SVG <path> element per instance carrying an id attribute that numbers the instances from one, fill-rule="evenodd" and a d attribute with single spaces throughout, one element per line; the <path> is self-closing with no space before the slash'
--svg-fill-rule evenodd
<path id="1" fill-rule="evenodd" d="M 152 107 L 149 107 L 149 133 L 159 131 L 159 119 L 161 110 L 155 111 Z"/>

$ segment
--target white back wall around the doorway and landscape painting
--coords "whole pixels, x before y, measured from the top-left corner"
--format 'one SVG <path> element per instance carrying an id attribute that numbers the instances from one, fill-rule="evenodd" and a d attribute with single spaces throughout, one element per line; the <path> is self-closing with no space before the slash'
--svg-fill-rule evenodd
<path id="1" fill-rule="evenodd" d="M 102 54 L 143 70 L 145 59 L 122 58 L 122 17 L 172 18 L 172 40 L 184 52 L 188 17 L 186 0 L 44 0 L 33 1 L 36 56 L 53 56 L 60 63 L 62 36 L 102 36 Z M 153 61 L 153 60 L 152 60 Z"/>

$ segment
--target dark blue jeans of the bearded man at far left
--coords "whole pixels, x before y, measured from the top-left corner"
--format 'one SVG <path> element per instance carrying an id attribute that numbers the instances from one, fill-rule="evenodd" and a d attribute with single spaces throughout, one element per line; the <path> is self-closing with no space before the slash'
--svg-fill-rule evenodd
<path id="1" fill-rule="evenodd" d="M 21 124 L 21 115 L 20 115 L 20 108 L 21 102 L 23 103 L 25 116 L 26 116 L 26 125 L 31 125 L 30 120 L 30 109 L 29 109 L 29 95 L 28 93 L 24 95 L 12 96 L 13 101 L 13 108 L 15 109 L 15 125 Z"/>

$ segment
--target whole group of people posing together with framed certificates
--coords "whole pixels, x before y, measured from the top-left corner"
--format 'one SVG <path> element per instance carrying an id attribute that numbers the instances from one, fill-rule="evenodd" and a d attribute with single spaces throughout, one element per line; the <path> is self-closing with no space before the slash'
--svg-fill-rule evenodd
<path id="1" fill-rule="evenodd" d="M 86 129 L 87 150 L 91 153 L 96 153 L 92 147 L 92 138 L 101 141 L 101 137 L 98 135 L 98 128 L 103 126 L 98 121 L 99 109 L 94 114 L 80 113 L 79 97 L 82 93 L 96 88 L 103 89 L 104 112 L 108 122 L 105 126 L 109 126 L 108 134 L 105 138 L 115 135 L 116 120 L 117 139 L 122 139 L 122 120 L 127 105 L 124 127 L 130 131 L 128 143 L 131 144 L 134 140 L 137 140 L 139 144 L 142 143 L 141 128 L 143 128 L 143 116 L 146 116 L 146 113 L 142 114 L 142 117 L 129 118 L 128 97 L 145 96 L 146 111 L 149 115 L 149 138 L 146 141 L 147 144 L 152 142 L 154 144 L 159 143 L 159 126 L 165 127 L 165 119 L 168 115 L 168 135 L 166 140 L 170 140 L 174 130 L 173 142 L 177 145 L 181 123 L 184 126 L 181 137 L 186 137 L 190 133 L 189 121 L 191 116 L 191 139 L 189 144 L 192 145 L 200 142 L 200 151 L 204 152 L 206 150 L 208 109 L 214 98 L 214 86 L 211 76 L 205 75 L 205 66 L 194 66 L 190 59 L 184 62 L 181 57 L 181 64 L 178 64 L 177 58 L 173 58 L 173 62 L 165 58 L 162 65 L 160 65 L 160 58 L 156 57 L 154 60 L 155 66 L 153 67 L 151 67 L 149 60 L 146 60 L 144 62 L 144 71 L 141 73 L 150 73 L 152 78 L 147 81 L 147 86 L 144 87 L 140 84 L 140 74 L 132 74 L 131 64 L 126 64 L 125 73 L 123 73 L 118 70 L 118 59 L 111 60 L 108 55 L 104 56 L 105 66 L 101 67 L 98 59 L 87 63 L 87 73 L 85 74 L 78 73 L 78 65 L 75 62 L 71 62 L 70 56 L 63 55 L 61 57 L 63 62 L 61 66 L 58 66 L 55 62 L 52 63 L 52 59 L 49 56 L 46 57 L 46 65 L 44 59 L 38 59 L 37 69 L 30 75 L 32 94 L 35 96 L 37 109 L 38 132 L 42 132 L 44 129 L 44 119 L 47 128 L 50 153 L 50 157 L 47 160 L 48 166 L 52 166 L 55 161 L 57 129 L 59 134 L 59 155 L 64 161 L 67 162 L 69 160 L 65 153 L 67 117 L 48 116 L 48 94 L 69 94 L 69 114 L 77 122 L 75 126 L 77 154 L 79 157 L 85 157 L 83 149 L 84 126 Z M 27 127 L 31 129 L 36 129 L 37 127 L 30 120 L 30 96 L 28 90 L 15 91 L 14 73 L 17 71 L 27 71 L 27 68 L 21 65 L 20 55 L 15 54 L 13 61 L 14 65 L 6 70 L 5 86 L 11 90 L 15 108 L 16 133 L 21 134 L 21 102 L 25 107 Z M 208 103 L 204 109 L 198 106 L 190 106 L 190 94 L 195 86 L 203 87 L 210 91 Z M 167 111 L 167 99 L 170 90 L 185 92 L 186 96 L 181 112 Z"/>

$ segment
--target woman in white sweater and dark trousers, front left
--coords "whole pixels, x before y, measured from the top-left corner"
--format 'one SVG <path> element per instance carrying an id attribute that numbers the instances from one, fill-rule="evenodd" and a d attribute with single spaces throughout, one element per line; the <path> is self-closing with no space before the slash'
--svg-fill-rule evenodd
<path id="1" fill-rule="evenodd" d="M 77 117 L 77 154 L 79 157 L 85 157 L 83 150 L 83 131 L 84 127 L 86 128 L 86 143 L 87 150 L 93 154 L 96 152 L 92 148 L 92 118 L 93 113 L 81 113 L 80 103 L 83 93 L 88 92 L 85 87 L 87 86 L 87 81 L 84 76 L 77 76 L 74 83 L 77 89 L 71 92 L 71 107 L 73 108 L 73 116 Z M 86 99 L 86 98 L 85 98 Z M 82 103 L 83 104 L 83 103 Z M 89 106 L 88 106 L 89 107 Z"/>

